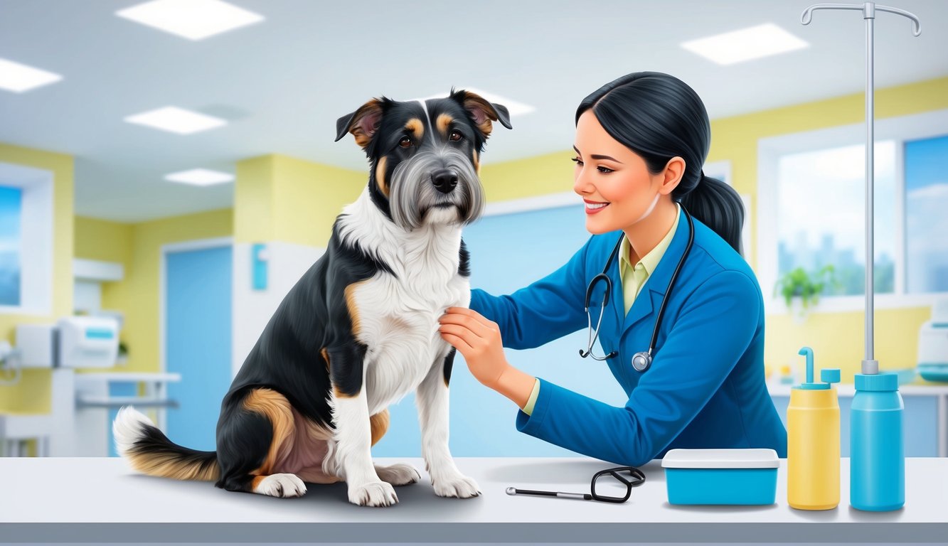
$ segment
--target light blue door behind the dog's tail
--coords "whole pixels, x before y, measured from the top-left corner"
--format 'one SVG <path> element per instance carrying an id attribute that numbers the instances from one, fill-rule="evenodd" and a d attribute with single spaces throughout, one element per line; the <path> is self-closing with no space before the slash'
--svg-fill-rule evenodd
<path id="1" fill-rule="evenodd" d="M 221 400 L 231 381 L 231 247 L 166 255 L 165 364 L 180 373 L 168 395 L 168 437 L 179 446 L 216 449 Z"/>

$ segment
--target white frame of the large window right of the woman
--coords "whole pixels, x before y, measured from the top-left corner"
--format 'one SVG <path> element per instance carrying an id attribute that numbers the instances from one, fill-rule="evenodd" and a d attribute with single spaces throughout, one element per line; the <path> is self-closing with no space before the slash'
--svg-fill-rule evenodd
<path id="1" fill-rule="evenodd" d="M 875 294 L 874 307 L 897 309 L 931 305 L 948 292 L 905 293 L 905 165 L 904 142 L 948 135 L 948 109 L 921 114 L 876 119 L 875 141 L 895 140 L 895 292 Z M 757 142 L 757 278 L 764 293 L 768 314 L 787 314 L 784 300 L 774 296 L 777 280 L 777 180 L 781 155 L 813 152 L 849 145 L 866 144 L 866 123 L 827 127 L 814 131 L 761 138 Z M 865 201 L 860 200 L 865 209 Z M 885 206 L 878 200 L 875 208 Z M 865 245 L 865 234 L 864 234 Z M 875 250 L 875 249 L 873 249 Z M 813 309 L 820 313 L 861 311 L 866 295 L 821 296 Z"/>

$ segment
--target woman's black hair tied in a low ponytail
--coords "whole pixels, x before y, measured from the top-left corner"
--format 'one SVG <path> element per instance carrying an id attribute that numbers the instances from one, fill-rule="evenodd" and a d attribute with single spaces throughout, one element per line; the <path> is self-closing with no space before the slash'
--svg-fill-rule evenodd
<path id="1" fill-rule="evenodd" d="M 672 200 L 741 253 L 744 207 L 737 191 L 702 172 L 711 124 L 694 89 L 661 72 L 635 72 L 583 99 L 577 123 L 590 108 L 612 138 L 645 159 L 649 173 L 661 173 L 672 157 L 682 157 L 684 174 Z"/>

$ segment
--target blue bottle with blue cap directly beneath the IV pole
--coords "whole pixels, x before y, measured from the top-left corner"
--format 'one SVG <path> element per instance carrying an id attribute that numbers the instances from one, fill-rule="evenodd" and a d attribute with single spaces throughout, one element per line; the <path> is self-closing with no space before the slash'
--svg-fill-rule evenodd
<path id="1" fill-rule="evenodd" d="M 887 512 L 905 504 L 902 395 L 895 373 L 856 373 L 849 451 L 849 504 Z"/>

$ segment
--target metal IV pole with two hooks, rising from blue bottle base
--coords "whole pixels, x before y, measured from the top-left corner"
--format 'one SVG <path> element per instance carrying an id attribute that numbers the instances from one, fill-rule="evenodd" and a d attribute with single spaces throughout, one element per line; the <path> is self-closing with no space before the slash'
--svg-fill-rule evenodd
<path id="1" fill-rule="evenodd" d="M 809 25 L 815 9 L 857 9 L 866 21 L 866 356 L 856 374 L 856 394 L 850 414 L 849 504 L 858 510 L 898 510 L 905 503 L 905 457 L 902 445 L 902 396 L 895 373 L 879 373 L 873 357 L 873 40 L 876 11 L 888 11 L 912 20 L 913 34 L 921 34 L 919 18 L 904 9 L 860 4 L 814 4 L 800 21 Z"/>

